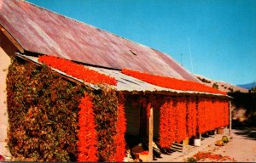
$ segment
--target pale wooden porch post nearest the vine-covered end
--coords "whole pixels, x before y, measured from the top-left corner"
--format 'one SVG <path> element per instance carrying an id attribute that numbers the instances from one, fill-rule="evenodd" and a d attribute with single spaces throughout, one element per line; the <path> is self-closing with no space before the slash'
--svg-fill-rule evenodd
<path id="1" fill-rule="evenodd" d="M 150 108 L 150 117 L 149 117 L 149 131 L 148 131 L 148 161 L 153 160 L 153 133 L 154 133 L 154 115 L 153 108 Z"/>

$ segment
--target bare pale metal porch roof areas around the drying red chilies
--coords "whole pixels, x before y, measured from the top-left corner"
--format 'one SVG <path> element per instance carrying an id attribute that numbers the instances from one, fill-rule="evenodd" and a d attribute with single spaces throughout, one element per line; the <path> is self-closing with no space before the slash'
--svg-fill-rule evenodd
<path id="1" fill-rule="evenodd" d="M 32 62 L 37 63 L 41 65 L 40 62 L 38 62 L 37 57 L 32 57 L 32 56 L 26 56 L 17 53 L 17 56 L 25 59 L 30 59 Z M 180 90 L 174 90 L 174 89 L 169 89 L 166 87 L 159 87 L 155 86 L 153 84 L 149 84 L 148 82 L 143 82 L 137 78 L 134 78 L 132 76 L 126 76 L 123 74 L 120 70 L 109 70 L 105 68 L 99 68 L 99 67 L 93 67 L 93 66 L 88 66 L 86 65 L 87 68 L 91 70 L 96 70 L 99 73 L 105 74 L 107 76 L 112 76 L 116 79 L 117 81 L 117 86 L 111 86 L 113 89 L 116 89 L 117 91 L 120 92 L 129 92 L 129 93 L 164 93 L 164 94 L 169 94 L 169 93 L 176 93 L 176 94 L 204 94 L 204 95 L 214 95 L 214 96 L 224 96 L 223 94 L 218 94 L 218 93 L 202 93 L 202 92 L 195 92 L 195 91 L 180 91 Z M 53 70 L 57 71 L 61 75 L 68 76 L 66 73 L 62 72 L 61 70 L 56 70 L 52 68 Z M 73 76 L 68 76 L 71 77 L 78 82 L 83 82 L 80 79 L 77 79 Z M 85 85 L 92 87 L 94 89 L 98 89 L 97 86 L 92 85 L 90 83 L 85 82 Z"/>

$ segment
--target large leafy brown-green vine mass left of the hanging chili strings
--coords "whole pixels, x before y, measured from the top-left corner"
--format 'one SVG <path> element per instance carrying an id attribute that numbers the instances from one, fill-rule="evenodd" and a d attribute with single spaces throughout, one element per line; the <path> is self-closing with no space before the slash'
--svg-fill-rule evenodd
<path id="1" fill-rule="evenodd" d="M 45 66 L 14 60 L 7 79 L 11 154 L 18 160 L 76 160 L 84 89 Z"/>

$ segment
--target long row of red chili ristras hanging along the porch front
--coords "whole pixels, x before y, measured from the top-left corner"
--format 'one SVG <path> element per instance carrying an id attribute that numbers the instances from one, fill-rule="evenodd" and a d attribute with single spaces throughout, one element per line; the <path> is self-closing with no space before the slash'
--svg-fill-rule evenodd
<path id="1" fill-rule="evenodd" d="M 162 148 L 173 142 L 229 125 L 229 103 L 226 100 L 199 98 L 168 98 L 160 107 L 160 139 Z"/>

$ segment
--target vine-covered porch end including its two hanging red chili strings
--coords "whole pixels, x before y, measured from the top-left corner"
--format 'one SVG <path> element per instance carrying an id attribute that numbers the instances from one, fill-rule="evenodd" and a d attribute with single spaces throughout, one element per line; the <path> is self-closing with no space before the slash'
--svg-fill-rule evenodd
<path id="1" fill-rule="evenodd" d="M 7 85 L 8 144 L 17 160 L 123 160 L 124 107 L 114 90 L 89 90 L 20 59 L 9 67 Z"/>

